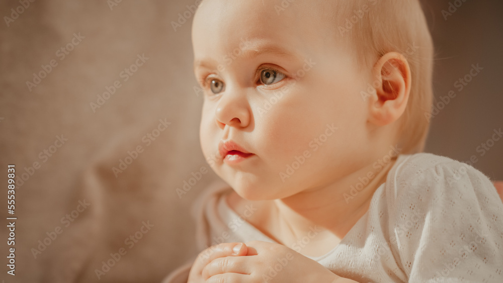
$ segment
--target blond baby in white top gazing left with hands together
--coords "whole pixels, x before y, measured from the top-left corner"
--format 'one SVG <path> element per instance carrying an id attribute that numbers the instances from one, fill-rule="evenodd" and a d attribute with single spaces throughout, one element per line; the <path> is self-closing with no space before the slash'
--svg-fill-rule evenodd
<path id="1" fill-rule="evenodd" d="M 192 40 L 201 147 L 231 188 L 202 206 L 189 282 L 503 281 L 495 187 L 421 153 L 418 0 L 204 0 Z"/>

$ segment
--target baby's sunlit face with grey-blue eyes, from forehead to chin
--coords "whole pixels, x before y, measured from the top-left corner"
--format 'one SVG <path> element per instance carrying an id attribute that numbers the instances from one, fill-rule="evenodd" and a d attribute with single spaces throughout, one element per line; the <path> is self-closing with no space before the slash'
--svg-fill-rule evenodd
<path id="1" fill-rule="evenodd" d="M 201 147 L 245 199 L 312 190 L 367 161 L 361 91 L 371 72 L 359 71 L 328 5 L 299 1 L 278 10 L 281 1 L 205 0 L 195 16 Z M 222 140 L 253 155 L 223 158 Z"/>

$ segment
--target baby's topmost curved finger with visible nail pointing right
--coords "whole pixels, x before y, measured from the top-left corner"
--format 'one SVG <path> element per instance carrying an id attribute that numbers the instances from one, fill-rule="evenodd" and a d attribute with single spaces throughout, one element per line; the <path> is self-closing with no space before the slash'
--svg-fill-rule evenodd
<path id="1" fill-rule="evenodd" d="M 213 259 L 226 256 L 246 255 L 247 247 L 244 243 L 221 243 L 202 251 L 192 265 L 192 269 L 201 272 Z M 200 273 L 201 274 L 201 273 Z"/>

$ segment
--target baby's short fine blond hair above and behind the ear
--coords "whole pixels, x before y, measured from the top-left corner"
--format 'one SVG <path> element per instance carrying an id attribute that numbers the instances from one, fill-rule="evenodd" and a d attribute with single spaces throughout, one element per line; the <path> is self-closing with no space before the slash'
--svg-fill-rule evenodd
<path id="1" fill-rule="evenodd" d="M 388 52 L 401 53 L 411 72 L 410 97 L 399 121 L 401 153 L 422 152 L 433 103 L 434 47 L 418 0 L 337 1 L 337 34 L 349 39 L 362 67 L 372 68 Z M 366 5 L 366 6 L 364 6 Z M 363 43 L 363 44 L 362 44 Z M 356 48 L 355 48 L 356 47 Z"/>

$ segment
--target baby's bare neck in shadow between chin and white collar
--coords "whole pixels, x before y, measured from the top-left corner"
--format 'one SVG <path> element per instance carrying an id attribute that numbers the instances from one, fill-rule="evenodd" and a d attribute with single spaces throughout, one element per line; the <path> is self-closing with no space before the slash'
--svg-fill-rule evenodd
<path id="1" fill-rule="evenodd" d="M 386 181 L 386 175 L 393 167 L 392 159 L 381 171 L 372 170 L 372 164 L 354 172 L 326 187 L 304 191 L 294 196 L 274 201 L 278 222 L 290 227 L 289 238 L 302 238 L 316 225 L 344 238 L 358 220 L 367 212 L 377 188 Z M 375 173 L 367 185 L 348 199 L 349 188 L 355 186 L 367 172 Z M 345 194 L 348 194 L 345 196 Z"/>

